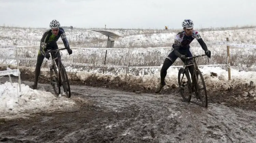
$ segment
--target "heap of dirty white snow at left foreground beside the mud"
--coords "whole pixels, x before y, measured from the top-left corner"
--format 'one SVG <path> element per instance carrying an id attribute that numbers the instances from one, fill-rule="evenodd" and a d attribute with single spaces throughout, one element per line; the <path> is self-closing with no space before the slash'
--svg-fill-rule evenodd
<path id="1" fill-rule="evenodd" d="M 13 118 L 26 116 L 38 111 L 56 111 L 62 107 L 73 107 L 72 99 L 59 95 L 54 96 L 50 92 L 33 90 L 28 85 L 21 84 L 19 92 L 18 83 L 5 82 L 0 84 L 0 117 Z M 63 109 L 62 109 L 63 110 Z"/>

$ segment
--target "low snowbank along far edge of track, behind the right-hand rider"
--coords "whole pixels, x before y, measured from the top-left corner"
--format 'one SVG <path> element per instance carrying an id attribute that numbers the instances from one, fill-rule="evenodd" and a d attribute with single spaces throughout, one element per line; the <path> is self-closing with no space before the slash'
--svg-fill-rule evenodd
<path id="1" fill-rule="evenodd" d="M 241 85 L 241 84 L 250 84 L 250 82 L 256 83 L 256 72 L 245 72 L 236 69 L 231 69 L 231 80 L 228 80 L 228 72 L 222 67 L 199 67 L 202 75 L 204 77 L 205 83 L 207 85 L 207 89 L 211 90 L 223 90 L 226 91 L 232 86 Z M 178 72 L 179 68 L 170 67 L 167 70 L 167 76 L 165 81 L 168 85 L 178 84 Z M 211 76 L 211 73 L 216 73 L 217 76 Z M 94 75 L 93 75 L 94 74 Z M 101 73 L 87 73 L 87 72 L 75 72 L 76 77 L 70 76 L 70 78 L 80 79 L 81 81 L 85 81 L 90 77 L 98 77 L 98 79 L 109 79 L 111 82 L 115 80 L 115 77 L 120 77 L 121 80 L 127 80 L 130 83 L 140 83 L 141 86 L 145 88 L 155 88 L 158 86 L 160 82 L 160 68 L 158 68 L 158 72 L 154 75 L 143 75 L 143 76 L 134 76 L 132 74 L 127 75 L 127 79 L 125 79 L 125 74 L 120 74 L 118 76 L 114 75 L 106 75 Z M 93 76 L 92 76 L 93 75 Z M 143 82 L 141 82 L 143 81 Z M 164 86 L 164 88 L 169 88 L 168 86 Z M 256 91 L 255 91 L 256 92 Z"/>

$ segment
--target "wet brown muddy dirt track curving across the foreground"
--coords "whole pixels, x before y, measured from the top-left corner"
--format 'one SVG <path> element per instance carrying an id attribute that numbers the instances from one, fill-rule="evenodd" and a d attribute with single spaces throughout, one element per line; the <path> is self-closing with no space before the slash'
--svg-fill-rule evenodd
<path id="1" fill-rule="evenodd" d="M 42 87 L 53 93 L 49 84 L 39 84 Z M 246 103 L 235 107 L 231 99 L 223 99 L 222 104 L 210 99 L 208 108 L 203 108 L 195 102 L 182 102 L 176 92 L 136 94 L 84 85 L 71 89 L 75 108 L 1 120 L 0 142 L 256 142 L 255 108 L 249 109 Z"/>

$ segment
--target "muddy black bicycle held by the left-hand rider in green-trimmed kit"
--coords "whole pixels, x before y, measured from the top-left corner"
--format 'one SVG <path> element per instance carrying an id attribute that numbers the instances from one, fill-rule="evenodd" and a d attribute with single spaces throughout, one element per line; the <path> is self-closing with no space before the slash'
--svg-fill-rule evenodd
<path id="1" fill-rule="evenodd" d="M 62 86 L 67 97 L 70 98 L 71 92 L 70 92 L 69 79 L 68 79 L 68 75 L 65 67 L 61 63 L 60 52 L 59 52 L 60 50 L 66 50 L 66 49 L 67 48 L 47 50 L 46 53 L 51 53 L 51 57 L 52 57 L 52 65 L 50 66 L 50 77 L 51 77 L 51 85 L 53 86 L 53 90 L 55 94 L 57 96 L 60 94 L 60 87 Z M 58 63 L 56 63 L 56 60 L 58 61 Z"/>

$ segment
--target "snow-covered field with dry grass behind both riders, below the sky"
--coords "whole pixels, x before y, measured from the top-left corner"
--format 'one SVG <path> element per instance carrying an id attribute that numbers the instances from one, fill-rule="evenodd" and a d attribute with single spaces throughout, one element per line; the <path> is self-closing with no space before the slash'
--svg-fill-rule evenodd
<path id="1" fill-rule="evenodd" d="M 24 28 L 8 28 L 0 27 L 0 45 L 18 45 L 29 46 L 39 45 L 40 38 L 46 29 L 24 29 Z M 125 30 L 114 29 L 112 32 L 121 37 L 113 39 L 115 41 L 114 48 L 117 50 L 108 50 L 106 56 L 106 65 L 119 66 L 161 66 L 163 60 L 169 54 L 173 38 L 178 30 Z M 173 32 L 175 31 L 175 32 Z M 201 65 L 205 64 L 226 64 L 227 63 L 227 48 L 226 45 L 216 45 L 218 42 L 226 41 L 229 37 L 231 43 L 237 44 L 255 44 L 256 28 L 233 29 L 233 30 L 216 30 L 216 31 L 200 31 L 202 38 L 212 51 L 210 63 L 207 63 L 205 58 L 198 60 Z M 106 49 L 98 49 L 106 47 L 107 36 L 92 31 L 90 29 L 66 29 L 68 41 L 73 54 L 68 55 L 63 51 L 62 60 L 64 62 L 73 63 L 66 65 L 69 71 L 87 71 L 87 72 L 102 72 Z M 63 46 L 61 39 L 58 42 L 59 46 Z M 74 47 L 84 47 L 86 49 L 75 49 Z M 165 48 L 157 48 L 165 47 Z M 37 58 L 38 46 L 20 47 L 18 54 L 20 58 Z M 124 50 L 120 50 L 124 49 Z M 129 49 L 129 50 L 127 50 Z M 203 50 L 196 40 L 191 43 L 191 52 L 193 54 L 201 54 Z M 250 48 L 230 48 L 231 66 L 255 67 L 255 49 Z M 1 53 L 0 56 L 6 55 Z M 8 58 L 11 56 L 7 55 Z M 75 66 L 74 63 L 90 64 L 91 67 Z M 33 67 L 35 61 L 21 61 L 21 65 Z M 177 59 L 173 65 L 182 65 L 182 62 Z M 95 68 L 95 66 L 98 66 Z M 47 67 L 47 66 L 46 66 Z M 101 68 L 99 68 L 101 67 Z M 118 72 L 125 69 L 118 68 Z M 109 74 L 117 74 L 113 69 L 107 70 Z M 150 74 L 148 69 L 130 68 L 130 72 L 134 75 L 139 73 Z M 155 72 L 153 72 L 155 74 Z"/>

